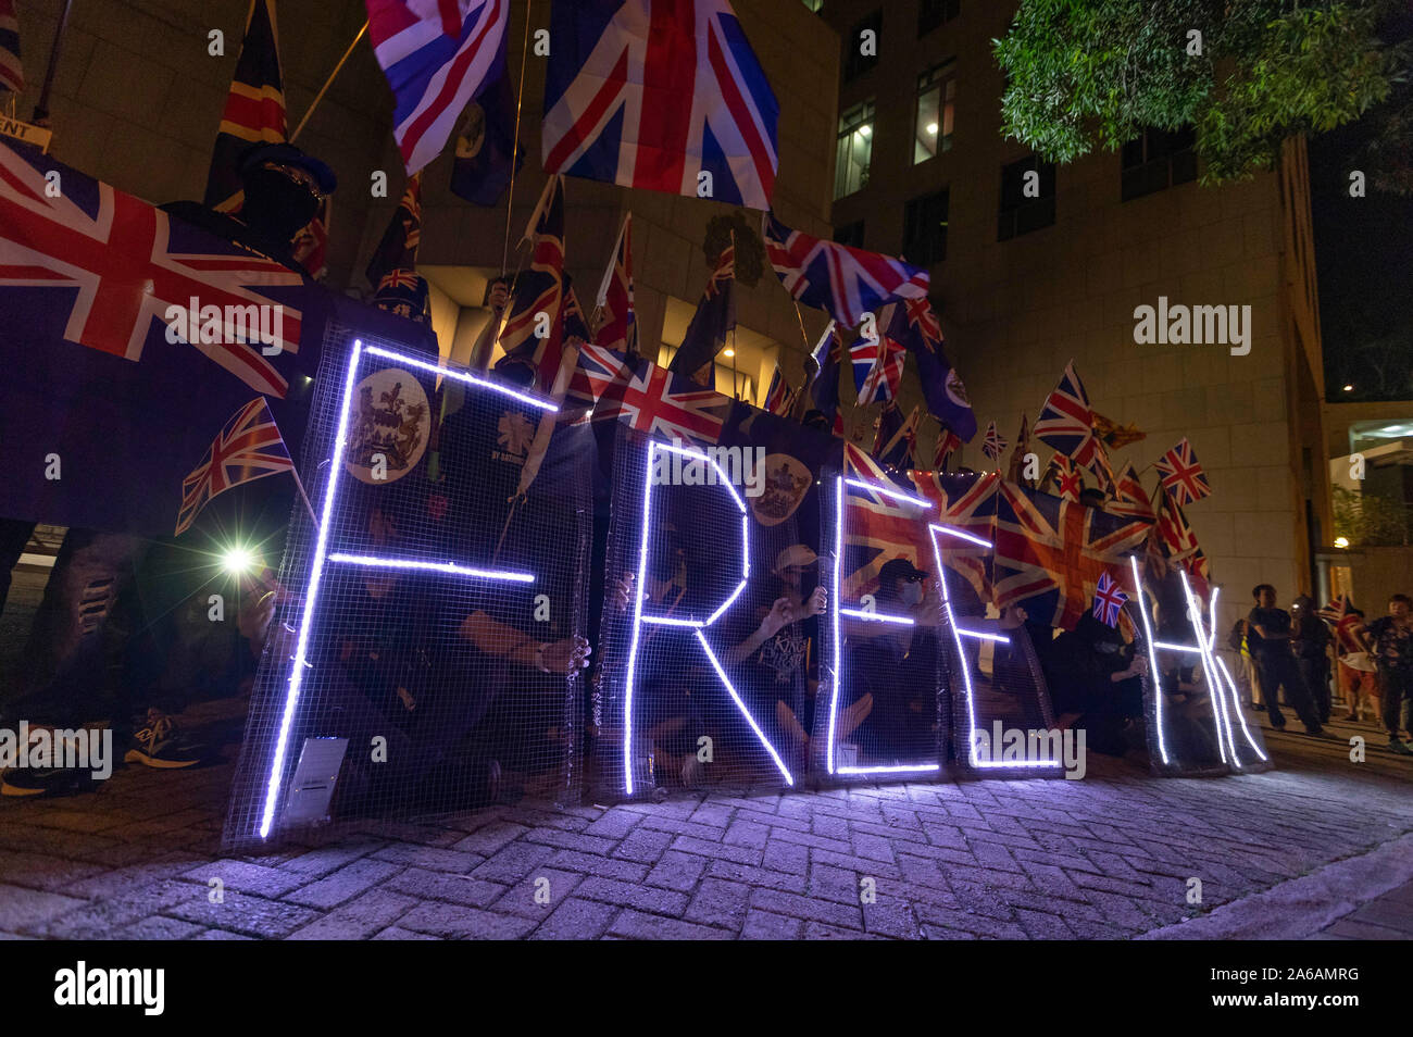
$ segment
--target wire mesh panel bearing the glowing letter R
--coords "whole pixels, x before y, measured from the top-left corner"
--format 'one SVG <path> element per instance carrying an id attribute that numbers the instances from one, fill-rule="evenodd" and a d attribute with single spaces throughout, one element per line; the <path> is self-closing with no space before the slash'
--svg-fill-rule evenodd
<path id="1" fill-rule="evenodd" d="M 818 576 L 784 476 L 746 487 L 738 446 L 612 434 L 598 794 L 797 786 Z"/>

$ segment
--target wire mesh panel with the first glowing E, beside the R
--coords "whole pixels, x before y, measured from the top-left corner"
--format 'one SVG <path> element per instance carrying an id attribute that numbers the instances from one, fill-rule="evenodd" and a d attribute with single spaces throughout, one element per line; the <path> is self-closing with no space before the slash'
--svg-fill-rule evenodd
<path id="1" fill-rule="evenodd" d="M 935 504 L 890 482 L 836 473 L 822 510 L 829 680 L 814 763 L 841 781 L 937 773 L 948 743 L 951 633 L 931 548 Z"/>

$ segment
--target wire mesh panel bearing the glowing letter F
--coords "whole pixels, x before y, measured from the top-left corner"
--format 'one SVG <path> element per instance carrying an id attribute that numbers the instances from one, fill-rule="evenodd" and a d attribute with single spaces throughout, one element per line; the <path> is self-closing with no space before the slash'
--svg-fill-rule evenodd
<path id="1" fill-rule="evenodd" d="M 331 326 L 226 843 L 577 781 L 588 428 Z"/>

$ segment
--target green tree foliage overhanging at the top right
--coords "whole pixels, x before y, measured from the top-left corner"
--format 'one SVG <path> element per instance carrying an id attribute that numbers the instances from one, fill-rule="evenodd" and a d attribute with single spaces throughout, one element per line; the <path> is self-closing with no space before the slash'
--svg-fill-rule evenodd
<path id="1" fill-rule="evenodd" d="M 1010 31 L 993 41 L 1009 76 L 1002 131 L 1068 162 L 1146 127 L 1191 126 L 1202 181 L 1224 182 L 1272 168 L 1290 136 L 1381 112 L 1406 134 L 1381 137 L 1381 158 L 1407 160 L 1413 52 L 1381 37 L 1392 8 L 1390 0 L 1022 0 Z M 1371 179 L 1413 186 L 1406 167 Z"/>

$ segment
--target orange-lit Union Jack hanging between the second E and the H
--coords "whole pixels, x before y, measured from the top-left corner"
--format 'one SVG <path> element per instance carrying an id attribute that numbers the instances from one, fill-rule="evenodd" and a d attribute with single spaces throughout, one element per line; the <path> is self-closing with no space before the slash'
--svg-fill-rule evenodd
<path id="1" fill-rule="evenodd" d="M 1074 630 L 1105 571 L 1128 574 L 1149 524 L 1002 482 L 996 497 L 995 603 Z M 1130 578 L 1132 579 L 1132 578 Z M 1121 586 L 1133 593 L 1133 588 Z"/>

